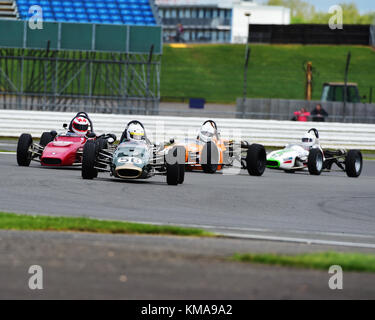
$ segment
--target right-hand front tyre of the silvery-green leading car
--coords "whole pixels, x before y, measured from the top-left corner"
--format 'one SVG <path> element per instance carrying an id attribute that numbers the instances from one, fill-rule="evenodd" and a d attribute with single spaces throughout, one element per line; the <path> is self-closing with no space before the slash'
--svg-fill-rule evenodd
<path id="1" fill-rule="evenodd" d="M 185 157 L 184 147 L 176 146 L 166 155 L 167 183 L 171 186 L 182 184 L 185 178 Z"/>

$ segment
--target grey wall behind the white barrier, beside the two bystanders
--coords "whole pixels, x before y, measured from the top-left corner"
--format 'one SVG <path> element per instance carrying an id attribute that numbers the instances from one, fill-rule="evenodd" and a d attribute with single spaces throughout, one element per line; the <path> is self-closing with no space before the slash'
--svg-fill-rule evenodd
<path id="1" fill-rule="evenodd" d="M 283 99 L 237 99 L 237 117 L 248 119 L 290 120 L 294 111 L 312 111 L 320 103 L 328 112 L 328 122 L 375 123 L 375 104 L 347 103 L 344 119 L 342 102 L 320 102 Z"/>

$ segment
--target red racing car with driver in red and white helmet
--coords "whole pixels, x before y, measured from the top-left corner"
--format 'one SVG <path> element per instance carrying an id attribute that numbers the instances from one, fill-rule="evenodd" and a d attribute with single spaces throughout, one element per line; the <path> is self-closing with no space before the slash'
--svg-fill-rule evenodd
<path id="1" fill-rule="evenodd" d="M 95 140 L 98 148 L 105 149 L 107 144 L 116 141 L 112 134 L 96 136 L 92 121 L 86 112 L 78 112 L 69 124 L 63 125 L 66 132 L 44 132 L 39 144 L 33 143 L 30 134 L 23 133 L 17 145 L 17 163 L 28 167 L 31 161 L 42 166 L 80 166 L 82 165 L 83 146 L 88 140 Z"/>

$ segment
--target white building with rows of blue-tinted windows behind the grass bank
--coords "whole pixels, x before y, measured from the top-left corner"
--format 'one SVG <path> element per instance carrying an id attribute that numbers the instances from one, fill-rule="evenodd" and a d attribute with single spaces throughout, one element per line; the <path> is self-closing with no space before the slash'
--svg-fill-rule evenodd
<path id="1" fill-rule="evenodd" d="M 176 25 L 184 26 L 186 42 L 245 43 L 250 24 L 290 24 L 291 10 L 260 5 L 253 0 L 156 0 L 165 40 L 172 41 Z M 250 16 L 246 16 L 250 14 Z"/>

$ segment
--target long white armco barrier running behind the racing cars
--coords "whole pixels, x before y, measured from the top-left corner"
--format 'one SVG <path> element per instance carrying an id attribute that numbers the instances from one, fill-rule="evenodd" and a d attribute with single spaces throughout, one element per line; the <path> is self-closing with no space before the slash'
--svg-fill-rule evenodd
<path id="1" fill-rule="evenodd" d="M 0 136 L 18 137 L 21 133 L 30 133 L 40 137 L 43 131 L 62 129 L 63 123 L 69 123 L 74 113 L 0 110 Z M 140 120 L 147 134 L 154 142 L 168 141 L 170 138 L 193 138 L 202 124 L 202 118 L 132 116 L 115 114 L 90 115 L 96 133 L 115 133 L 120 136 L 130 120 Z M 235 138 L 257 142 L 268 146 L 283 146 L 297 142 L 310 128 L 320 131 L 321 143 L 325 147 L 345 147 L 375 150 L 374 124 L 348 123 L 301 123 L 276 120 L 217 120 L 223 138 Z"/>

